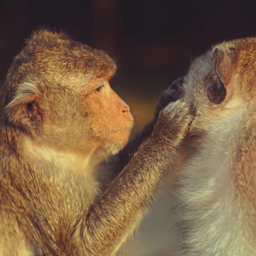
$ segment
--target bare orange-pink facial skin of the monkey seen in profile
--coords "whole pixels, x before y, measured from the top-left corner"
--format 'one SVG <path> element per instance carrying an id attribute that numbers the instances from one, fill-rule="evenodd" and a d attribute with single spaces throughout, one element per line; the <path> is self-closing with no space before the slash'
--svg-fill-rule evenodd
<path id="1" fill-rule="evenodd" d="M 84 96 L 85 111 L 94 117 L 90 121 L 91 132 L 102 145 L 115 145 L 120 148 L 128 141 L 133 125 L 130 109 L 107 81 L 100 83 L 99 86 Z M 90 109 L 87 106 L 90 106 Z"/>

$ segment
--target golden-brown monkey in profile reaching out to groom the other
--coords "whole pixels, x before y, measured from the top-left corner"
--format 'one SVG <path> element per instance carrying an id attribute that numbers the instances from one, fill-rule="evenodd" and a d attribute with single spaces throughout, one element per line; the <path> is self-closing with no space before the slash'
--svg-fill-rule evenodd
<path id="1" fill-rule="evenodd" d="M 114 255 L 140 223 L 191 116 L 181 101 L 160 112 L 102 191 L 96 166 L 133 123 L 115 71 L 105 52 L 46 30 L 15 57 L 0 107 L 0 255 Z"/>

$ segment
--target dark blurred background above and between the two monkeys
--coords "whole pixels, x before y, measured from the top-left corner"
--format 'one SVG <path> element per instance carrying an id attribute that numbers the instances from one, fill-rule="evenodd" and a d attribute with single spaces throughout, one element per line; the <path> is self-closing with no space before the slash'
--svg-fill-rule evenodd
<path id="1" fill-rule="evenodd" d="M 256 15 L 250 3 L 232 0 L 0 0 L 1 84 L 24 38 L 41 25 L 116 58 L 111 84 L 131 106 L 137 129 L 195 56 L 220 41 L 255 35 Z"/>

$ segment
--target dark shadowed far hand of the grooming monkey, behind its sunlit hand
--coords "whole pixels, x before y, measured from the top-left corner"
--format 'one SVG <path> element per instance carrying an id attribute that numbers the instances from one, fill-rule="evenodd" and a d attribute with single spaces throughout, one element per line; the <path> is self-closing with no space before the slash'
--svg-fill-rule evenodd
<path id="1" fill-rule="evenodd" d="M 155 116 L 158 117 L 160 111 L 165 108 L 170 102 L 174 102 L 184 95 L 183 78 L 176 79 L 168 88 L 165 90 L 160 98 L 157 100 L 157 108 Z"/>

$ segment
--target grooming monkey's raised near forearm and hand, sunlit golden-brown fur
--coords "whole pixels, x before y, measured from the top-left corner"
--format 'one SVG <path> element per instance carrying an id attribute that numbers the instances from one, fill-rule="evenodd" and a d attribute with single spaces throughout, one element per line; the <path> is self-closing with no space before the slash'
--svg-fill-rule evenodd
<path id="1" fill-rule="evenodd" d="M 73 236 L 76 248 L 90 256 L 114 255 L 139 224 L 166 167 L 188 130 L 186 103 L 160 113 L 152 136 L 145 141 L 99 200 L 79 219 Z M 164 117 L 168 112 L 168 117 Z"/>

